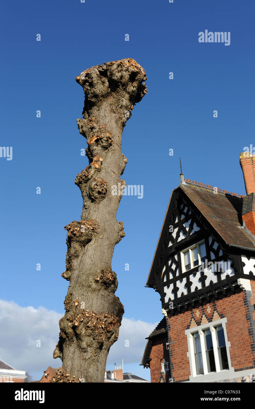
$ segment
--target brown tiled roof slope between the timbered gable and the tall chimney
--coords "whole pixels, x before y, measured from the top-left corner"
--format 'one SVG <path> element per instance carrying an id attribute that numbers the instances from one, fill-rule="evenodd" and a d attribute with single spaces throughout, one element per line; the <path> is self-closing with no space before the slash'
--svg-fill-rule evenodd
<path id="1" fill-rule="evenodd" d="M 255 250 L 255 239 L 248 230 L 241 229 L 243 198 L 219 191 L 214 194 L 212 189 L 189 182 L 180 184 L 180 188 L 227 244 Z"/>

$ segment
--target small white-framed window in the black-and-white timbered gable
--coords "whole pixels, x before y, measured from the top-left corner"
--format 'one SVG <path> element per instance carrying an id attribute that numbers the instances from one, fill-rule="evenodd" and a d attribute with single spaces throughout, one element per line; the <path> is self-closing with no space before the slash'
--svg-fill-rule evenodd
<path id="1" fill-rule="evenodd" d="M 191 270 L 206 260 L 205 241 L 194 244 L 181 252 L 182 272 Z"/>

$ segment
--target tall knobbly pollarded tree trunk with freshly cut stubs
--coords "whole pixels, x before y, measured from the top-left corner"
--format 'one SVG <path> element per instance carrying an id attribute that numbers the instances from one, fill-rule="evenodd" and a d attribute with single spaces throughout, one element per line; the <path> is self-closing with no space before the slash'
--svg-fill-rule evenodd
<path id="1" fill-rule="evenodd" d="M 89 68 L 76 81 L 85 94 L 83 119 L 77 124 L 87 138 L 89 165 L 75 179 L 83 198 L 81 220 L 65 227 L 62 276 L 70 285 L 53 353 L 63 369 L 53 382 L 104 382 L 107 355 L 118 339 L 124 312 L 114 294 L 118 281 L 111 266 L 114 246 L 125 233 L 123 222 L 116 220 L 121 195 L 112 193 L 113 186 L 125 185 L 120 179 L 127 163 L 121 137 L 133 105 L 147 92 L 146 74 L 125 58 Z"/>

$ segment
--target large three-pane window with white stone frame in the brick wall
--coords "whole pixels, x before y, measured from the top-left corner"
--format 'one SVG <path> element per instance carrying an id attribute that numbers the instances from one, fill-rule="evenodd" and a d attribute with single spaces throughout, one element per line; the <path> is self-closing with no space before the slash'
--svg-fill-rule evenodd
<path id="1" fill-rule="evenodd" d="M 234 372 L 230 362 L 226 318 L 185 331 L 189 347 L 192 382 L 210 382 L 228 378 Z"/>

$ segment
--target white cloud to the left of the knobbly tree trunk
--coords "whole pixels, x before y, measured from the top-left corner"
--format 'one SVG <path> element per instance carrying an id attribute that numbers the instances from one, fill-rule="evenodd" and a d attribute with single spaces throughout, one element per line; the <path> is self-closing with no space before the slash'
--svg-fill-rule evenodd
<path id="1" fill-rule="evenodd" d="M 34 380 L 41 379 L 49 365 L 61 366 L 61 360 L 52 356 L 61 317 L 44 307 L 20 307 L 0 300 L 0 359 L 20 371 L 29 371 Z M 37 340 L 41 347 L 36 347 Z"/>

